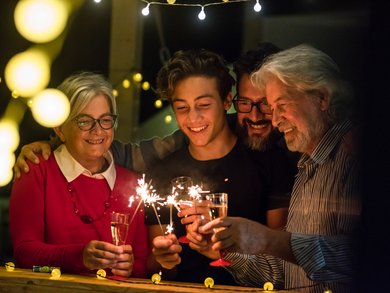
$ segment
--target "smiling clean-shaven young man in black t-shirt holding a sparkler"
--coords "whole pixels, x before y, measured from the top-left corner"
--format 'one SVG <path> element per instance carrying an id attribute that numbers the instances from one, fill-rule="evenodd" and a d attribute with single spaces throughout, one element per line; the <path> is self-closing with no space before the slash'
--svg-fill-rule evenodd
<path id="1" fill-rule="evenodd" d="M 179 128 L 189 141 L 149 170 L 157 192 L 170 193 L 171 179 L 190 176 L 204 190 L 228 193 L 228 214 L 267 224 L 272 190 L 265 173 L 271 162 L 254 159 L 253 151 L 237 139 L 227 123 L 234 80 L 223 59 L 206 50 L 179 51 L 160 70 L 157 81 L 158 93 L 172 103 Z M 285 186 L 284 192 L 289 188 Z M 168 224 L 167 210 L 160 209 L 160 213 L 159 221 Z M 156 225 L 154 211 L 147 212 L 147 222 L 155 224 L 150 239 L 157 262 L 176 270 L 178 281 L 201 283 L 212 277 L 218 284 L 235 284 L 224 268 L 209 265 L 210 258 L 216 259 L 218 254 L 207 251 L 203 256 L 178 243 L 177 237 L 184 235 L 185 229 L 176 215 L 173 220 L 174 234 L 158 236 L 161 227 Z"/>

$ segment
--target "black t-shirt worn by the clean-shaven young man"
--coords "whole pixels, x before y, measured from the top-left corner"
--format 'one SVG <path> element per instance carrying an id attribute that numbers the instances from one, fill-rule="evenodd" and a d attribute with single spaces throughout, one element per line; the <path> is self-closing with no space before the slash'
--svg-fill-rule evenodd
<path id="1" fill-rule="evenodd" d="M 263 155 L 257 153 L 237 142 L 223 158 L 198 161 L 191 157 L 187 147 L 183 147 L 152 168 L 147 177 L 152 179 L 152 185 L 162 196 L 171 192 L 171 179 L 190 176 L 193 183 L 202 186 L 203 190 L 228 193 L 229 216 L 244 217 L 265 224 L 267 200 L 273 188 L 269 179 L 273 176 L 268 176 L 271 169 L 269 164 L 274 162 L 271 158 L 265 160 Z M 283 189 L 282 185 L 279 187 L 280 190 Z M 286 192 L 290 189 L 291 186 L 286 187 Z M 160 207 L 158 214 L 161 223 L 169 223 L 169 208 Z M 185 235 L 185 227 L 176 214 L 177 211 L 174 210 L 174 233 L 180 237 Z M 147 224 L 158 224 L 152 208 L 146 208 L 145 217 Z M 193 251 L 187 244 L 182 246 L 177 281 L 203 283 L 205 278 L 212 277 L 217 284 L 235 284 L 224 268 L 211 267 L 210 259 Z"/>

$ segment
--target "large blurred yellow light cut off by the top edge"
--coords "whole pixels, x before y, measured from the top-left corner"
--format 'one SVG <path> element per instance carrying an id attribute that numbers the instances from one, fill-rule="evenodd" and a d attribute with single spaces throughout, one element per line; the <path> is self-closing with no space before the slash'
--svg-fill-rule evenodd
<path id="1" fill-rule="evenodd" d="M 68 21 L 67 1 L 20 0 L 14 19 L 18 32 L 27 40 L 45 43 L 57 38 Z"/>

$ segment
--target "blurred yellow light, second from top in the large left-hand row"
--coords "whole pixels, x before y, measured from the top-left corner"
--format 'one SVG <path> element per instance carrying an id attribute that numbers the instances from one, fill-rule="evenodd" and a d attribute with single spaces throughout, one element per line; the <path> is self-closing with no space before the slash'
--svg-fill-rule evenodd
<path id="1" fill-rule="evenodd" d="M 49 58 L 30 50 L 13 56 L 5 67 L 5 82 L 11 91 L 30 97 L 43 90 L 50 80 Z"/>

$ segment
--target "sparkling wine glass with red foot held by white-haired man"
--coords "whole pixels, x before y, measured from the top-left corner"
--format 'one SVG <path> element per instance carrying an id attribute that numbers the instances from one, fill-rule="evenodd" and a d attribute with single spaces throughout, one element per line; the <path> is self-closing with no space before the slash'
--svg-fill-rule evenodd
<path id="1" fill-rule="evenodd" d="M 210 193 L 206 196 L 209 203 L 209 213 L 212 220 L 217 218 L 224 218 L 227 216 L 228 209 L 228 195 L 227 193 Z M 224 228 L 215 228 L 214 233 L 218 232 L 220 229 Z M 229 266 L 231 261 L 223 259 L 222 251 L 219 252 L 219 259 L 212 261 L 210 263 L 213 267 Z"/>

